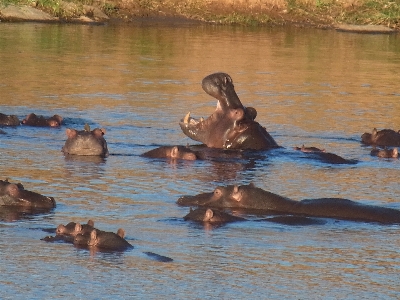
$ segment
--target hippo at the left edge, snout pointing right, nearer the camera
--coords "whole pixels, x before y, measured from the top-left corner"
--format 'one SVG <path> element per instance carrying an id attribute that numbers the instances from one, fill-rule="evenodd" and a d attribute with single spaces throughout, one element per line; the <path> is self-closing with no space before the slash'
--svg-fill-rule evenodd
<path id="1" fill-rule="evenodd" d="M 56 202 L 53 197 L 25 190 L 21 183 L 0 180 L 0 206 L 2 205 L 49 209 L 56 207 Z"/>

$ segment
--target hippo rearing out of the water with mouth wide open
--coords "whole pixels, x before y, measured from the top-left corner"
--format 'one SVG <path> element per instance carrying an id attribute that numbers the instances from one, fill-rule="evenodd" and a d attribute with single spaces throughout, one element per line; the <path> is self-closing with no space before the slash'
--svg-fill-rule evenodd
<path id="1" fill-rule="evenodd" d="M 228 74 L 208 75 L 203 79 L 202 87 L 218 100 L 217 108 L 206 120 L 196 120 L 189 112 L 179 123 L 185 135 L 212 148 L 266 150 L 279 147 L 266 129 L 255 121 L 257 111 L 240 102 Z"/>

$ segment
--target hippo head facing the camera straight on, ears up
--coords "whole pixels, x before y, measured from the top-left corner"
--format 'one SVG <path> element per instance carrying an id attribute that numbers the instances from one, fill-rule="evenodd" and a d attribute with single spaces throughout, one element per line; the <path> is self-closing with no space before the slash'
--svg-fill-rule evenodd
<path id="1" fill-rule="evenodd" d="M 107 142 L 103 135 L 106 133 L 103 128 L 95 128 L 90 131 L 88 124 L 85 129 L 77 131 L 67 128 L 67 140 L 65 141 L 62 152 L 69 155 L 87 155 L 87 156 L 108 156 Z"/>

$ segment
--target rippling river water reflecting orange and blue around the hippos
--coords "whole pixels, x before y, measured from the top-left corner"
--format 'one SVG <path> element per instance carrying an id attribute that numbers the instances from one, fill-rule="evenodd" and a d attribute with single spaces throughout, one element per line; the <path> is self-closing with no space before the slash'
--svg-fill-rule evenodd
<path id="1" fill-rule="evenodd" d="M 59 114 L 58 129 L 2 128 L 0 179 L 57 207 L 0 219 L 1 299 L 398 299 L 400 226 L 327 220 L 210 228 L 177 199 L 248 184 L 296 200 L 342 197 L 400 209 L 400 161 L 370 156 L 364 132 L 400 129 L 400 37 L 212 25 L 0 24 L 1 112 Z M 178 125 L 207 117 L 208 74 L 231 75 L 285 149 L 245 160 L 146 159 L 196 144 Z M 106 129 L 105 160 L 67 159 L 66 128 Z M 325 148 L 354 165 L 292 155 Z M 135 248 L 93 253 L 41 238 L 58 224 L 120 227 Z M 173 259 L 160 262 L 145 254 Z"/>

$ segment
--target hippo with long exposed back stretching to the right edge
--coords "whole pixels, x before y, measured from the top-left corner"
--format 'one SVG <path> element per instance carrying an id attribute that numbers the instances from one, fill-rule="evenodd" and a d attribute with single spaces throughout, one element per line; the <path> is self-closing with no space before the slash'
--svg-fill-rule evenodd
<path id="1" fill-rule="evenodd" d="M 183 196 L 177 201 L 184 206 L 206 206 L 258 210 L 264 213 L 333 218 L 383 224 L 400 223 L 400 210 L 364 205 L 342 198 L 289 199 L 249 185 L 217 187 L 214 192 Z"/>

